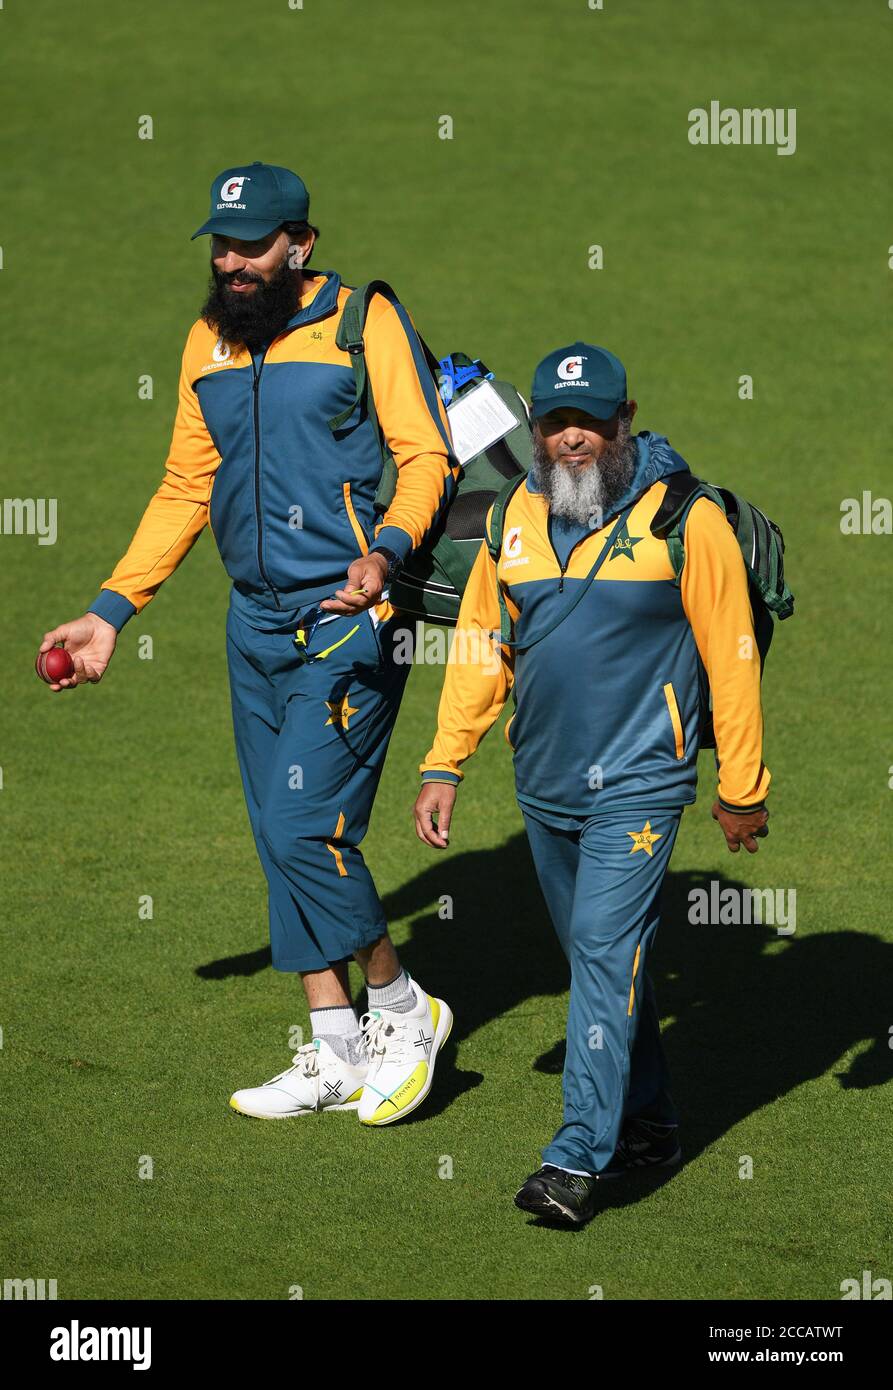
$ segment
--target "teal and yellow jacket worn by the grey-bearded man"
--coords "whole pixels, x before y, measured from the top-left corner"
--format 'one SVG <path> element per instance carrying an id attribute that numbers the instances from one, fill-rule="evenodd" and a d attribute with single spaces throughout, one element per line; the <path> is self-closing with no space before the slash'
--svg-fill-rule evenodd
<path id="1" fill-rule="evenodd" d="M 505 735 L 522 805 L 574 817 L 686 805 L 697 787 L 700 653 L 714 699 L 719 799 L 734 810 L 762 805 L 769 773 L 759 655 L 741 552 L 719 507 L 700 498 L 675 582 L 651 520 L 662 480 L 687 464 L 650 432 L 637 435 L 637 452 L 626 498 L 597 531 L 556 524 L 531 477 L 512 496 L 498 564 L 483 545 L 462 600 L 423 780 L 458 783 L 513 692 Z M 524 651 L 526 637 L 569 607 L 630 502 L 586 596 Z M 499 637 L 497 581 L 517 649 L 488 642 L 490 632 Z"/>

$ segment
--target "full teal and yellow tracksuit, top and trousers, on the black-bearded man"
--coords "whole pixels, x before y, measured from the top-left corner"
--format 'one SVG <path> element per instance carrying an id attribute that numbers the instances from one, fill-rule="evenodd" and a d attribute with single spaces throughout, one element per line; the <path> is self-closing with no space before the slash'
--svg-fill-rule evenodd
<path id="1" fill-rule="evenodd" d="M 399 614 L 387 602 L 321 623 L 306 653 L 293 642 L 298 619 L 344 585 L 373 538 L 403 559 L 419 546 L 458 474 L 412 320 L 376 293 L 366 364 L 398 467 L 376 523 L 374 425 L 357 404 L 337 434 L 328 428 L 356 393 L 351 359 L 335 346 L 348 295 L 334 271 L 307 272 L 298 313 L 253 354 L 193 324 L 164 478 L 90 605 L 120 630 L 210 525 L 232 580 L 236 751 L 282 970 L 323 969 L 385 927 L 357 847 L 409 671 L 394 660 Z"/>

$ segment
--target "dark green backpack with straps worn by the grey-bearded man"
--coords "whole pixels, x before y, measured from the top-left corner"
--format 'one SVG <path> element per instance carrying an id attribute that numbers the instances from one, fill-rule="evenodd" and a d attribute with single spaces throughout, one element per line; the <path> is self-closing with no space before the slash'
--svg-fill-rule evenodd
<path id="1" fill-rule="evenodd" d="M 513 480 L 506 484 L 494 503 L 492 517 L 490 521 L 490 537 L 487 538 L 487 546 L 494 564 L 498 563 L 499 550 L 502 549 L 505 510 L 520 481 L 522 480 Z M 651 534 L 666 541 L 675 574 L 673 582 L 677 587 L 686 560 L 683 527 L 690 507 L 698 498 L 709 498 L 711 502 L 722 509 L 729 525 L 734 531 L 734 538 L 739 542 L 741 557 L 744 560 L 744 569 L 747 570 L 747 589 L 754 619 L 754 638 L 759 652 L 759 676 L 762 678 L 762 667 L 775 630 L 772 614 L 775 613 L 779 621 L 783 621 L 794 612 L 794 595 L 785 582 L 785 537 L 775 521 L 771 521 L 769 517 L 759 510 L 759 507 L 755 507 L 751 502 L 747 502 L 737 493 L 729 492 L 727 488 L 718 488 L 711 482 L 702 482 L 691 473 L 672 473 L 666 478 L 666 492 L 663 495 L 663 500 L 661 502 L 661 506 L 658 507 L 651 523 Z M 618 531 L 627 512 L 623 512 L 618 517 L 612 537 Z M 602 548 L 600 563 L 605 559 L 605 555 L 611 548 L 612 537 L 609 537 L 608 543 Z M 583 594 L 595 578 L 597 570 L 598 563 L 590 571 L 577 595 L 561 617 L 558 617 L 556 621 L 552 623 L 545 631 L 537 634 L 533 642 L 524 644 L 524 649 L 529 645 L 533 646 L 534 642 L 540 642 L 544 637 L 548 637 L 549 632 L 552 632 L 559 623 L 568 617 L 570 610 L 576 607 L 577 602 L 583 598 Z M 512 635 L 512 617 L 505 603 L 502 585 L 498 581 L 497 591 L 499 596 L 501 614 L 499 641 L 502 645 L 508 642 L 509 646 L 515 646 L 516 644 L 508 641 Z M 701 696 L 700 746 L 715 748 L 716 737 L 714 734 L 709 681 L 700 655 L 698 687 Z"/>

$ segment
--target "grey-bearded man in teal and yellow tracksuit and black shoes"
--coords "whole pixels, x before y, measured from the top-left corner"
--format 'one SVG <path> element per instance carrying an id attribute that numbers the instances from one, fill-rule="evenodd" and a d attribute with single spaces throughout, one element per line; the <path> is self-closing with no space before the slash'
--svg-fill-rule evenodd
<path id="1" fill-rule="evenodd" d="M 623 364 L 604 348 L 576 342 L 537 367 L 534 467 L 488 516 L 415 808 L 420 840 L 445 848 L 460 764 L 512 691 L 517 799 L 570 965 L 563 1123 L 515 1201 L 568 1225 L 594 1215 L 600 1180 L 682 1158 L 647 960 L 695 796 L 698 657 L 729 849 L 754 853 L 768 817 L 741 552 L 725 512 L 700 496 L 676 578 L 651 523 L 665 480 L 687 464 L 663 436 L 633 436 L 634 414 Z"/>

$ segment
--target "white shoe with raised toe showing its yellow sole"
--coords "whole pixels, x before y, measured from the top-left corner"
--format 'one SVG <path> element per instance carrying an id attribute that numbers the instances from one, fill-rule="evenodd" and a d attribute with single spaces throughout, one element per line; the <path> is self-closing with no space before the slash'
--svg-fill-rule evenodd
<path id="1" fill-rule="evenodd" d="M 415 980 L 416 1006 L 408 1013 L 371 1009 L 360 1019 L 369 1076 L 359 1104 L 362 1125 L 392 1125 L 431 1090 L 434 1062 L 452 1029 L 452 1009 Z"/>

